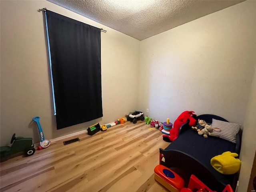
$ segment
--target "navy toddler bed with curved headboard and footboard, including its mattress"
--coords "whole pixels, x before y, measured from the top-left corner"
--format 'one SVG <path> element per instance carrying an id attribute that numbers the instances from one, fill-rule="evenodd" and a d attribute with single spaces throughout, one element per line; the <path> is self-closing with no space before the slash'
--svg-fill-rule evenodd
<path id="1" fill-rule="evenodd" d="M 212 118 L 228 122 L 212 114 L 204 114 L 195 118 L 205 120 L 207 123 L 212 123 Z M 186 122 L 181 126 L 178 138 L 167 148 L 160 148 L 160 164 L 168 168 L 180 168 L 189 175 L 194 174 L 212 190 L 222 191 L 227 184 L 235 190 L 238 173 L 221 174 L 211 166 L 210 160 L 226 151 L 236 152 L 239 155 L 240 143 L 241 131 L 236 136 L 236 143 L 232 143 L 216 137 L 199 136 Z"/>

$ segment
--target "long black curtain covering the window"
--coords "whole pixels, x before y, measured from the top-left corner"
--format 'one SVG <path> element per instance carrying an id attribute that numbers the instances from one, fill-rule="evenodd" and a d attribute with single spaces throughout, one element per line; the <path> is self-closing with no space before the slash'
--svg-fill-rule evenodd
<path id="1" fill-rule="evenodd" d="M 100 29 L 46 10 L 57 129 L 103 116 Z"/>

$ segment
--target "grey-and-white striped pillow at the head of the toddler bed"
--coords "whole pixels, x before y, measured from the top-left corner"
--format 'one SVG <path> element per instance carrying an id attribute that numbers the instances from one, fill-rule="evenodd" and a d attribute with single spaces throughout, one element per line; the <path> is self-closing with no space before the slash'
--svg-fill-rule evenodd
<path id="1" fill-rule="evenodd" d="M 212 119 L 212 128 L 214 127 L 220 128 L 221 131 L 218 132 L 213 130 L 211 132 L 211 136 L 219 137 L 232 143 L 236 143 L 236 134 L 240 130 L 240 124 Z"/>

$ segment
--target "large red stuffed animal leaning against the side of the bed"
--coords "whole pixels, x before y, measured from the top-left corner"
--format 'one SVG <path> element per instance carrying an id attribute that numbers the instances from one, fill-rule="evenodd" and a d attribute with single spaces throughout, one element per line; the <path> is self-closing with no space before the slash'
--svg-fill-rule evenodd
<path id="1" fill-rule="evenodd" d="M 170 136 L 163 135 L 163 139 L 168 142 L 173 142 L 176 138 L 178 138 L 180 126 L 187 122 L 189 119 L 189 126 L 195 126 L 196 120 L 193 118 L 194 111 L 184 111 L 178 118 L 174 121 L 173 128 L 170 130 Z"/>

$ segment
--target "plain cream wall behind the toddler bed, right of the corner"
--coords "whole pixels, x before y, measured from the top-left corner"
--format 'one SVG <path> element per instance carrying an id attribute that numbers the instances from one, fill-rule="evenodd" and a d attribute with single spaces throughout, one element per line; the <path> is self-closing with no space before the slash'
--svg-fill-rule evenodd
<path id="1" fill-rule="evenodd" d="M 185 110 L 244 124 L 255 66 L 256 2 L 141 41 L 138 106 L 171 122 Z"/>

